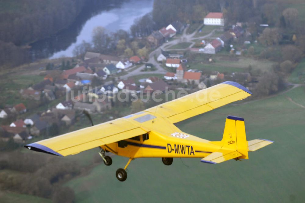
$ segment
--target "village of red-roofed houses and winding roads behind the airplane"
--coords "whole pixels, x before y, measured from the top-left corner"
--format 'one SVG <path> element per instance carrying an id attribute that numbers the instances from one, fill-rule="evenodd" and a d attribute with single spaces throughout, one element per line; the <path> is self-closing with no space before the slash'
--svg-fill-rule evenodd
<path id="1" fill-rule="evenodd" d="M 56 128 L 73 125 L 84 110 L 102 114 L 111 109 L 113 101 L 99 101 L 99 98 L 103 95 L 116 97 L 119 91 L 131 95 L 153 94 L 166 89 L 191 93 L 227 80 L 253 90 L 257 76 L 251 75 L 248 67 L 238 72 L 204 69 L 205 65 L 215 62 L 213 55 L 218 52 L 225 52 L 224 61 L 238 61 L 237 56 L 244 55 L 249 44 L 257 43 L 246 24 L 236 23 L 226 31 L 224 25 L 223 13 L 209 13 L 202 25 L 186 34 L 189 25 L 175 21 L 146 38 L 154 49 L 149 57 L 126 58 L 87 51 L 82 59 L 71 61 L 71 64 L 69 61 L 70 69 L 63 68 L 64 61 L 61 66 L 48 64 L 39 73 L 44 76 L 43 80 L 20 89 L 19 93 L 24 99 L 43 102 L 46 108 L 37 112 L 31 109 L 29 113 L 23 103 L 5 105 L 0 110 L 0 119 L 16 120 L 1 126 L 1 141 L 13 139 L 23 143 L 41 135 L 57 135 Z M 204 29 L 209 32 L 203 35 Z M 201 59 L 203 69 L 193 68 L 194 56 Z M 141 76 L 143 78 L 139 78 Z M 83 87 L 91 89 L 83 93 L 80 91 Z M 60 101 L 55 105 L 48 105 L 58 99 Z M 26 112 L 27 116 L 23 116 Z"/>

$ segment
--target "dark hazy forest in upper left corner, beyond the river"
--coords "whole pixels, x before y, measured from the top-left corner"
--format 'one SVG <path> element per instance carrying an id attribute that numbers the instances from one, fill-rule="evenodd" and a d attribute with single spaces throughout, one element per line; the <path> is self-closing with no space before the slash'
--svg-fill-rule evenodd
<path id="1" fill-rule="evenodd" d="M 111 1 L 114 5 L 120 2 L 123 0 Z M 84 10 L 93 14 L 107 4 L 96 0 L 0 0 L 0 67 L 30 62 L 28 44 L 66 29 Z"/>

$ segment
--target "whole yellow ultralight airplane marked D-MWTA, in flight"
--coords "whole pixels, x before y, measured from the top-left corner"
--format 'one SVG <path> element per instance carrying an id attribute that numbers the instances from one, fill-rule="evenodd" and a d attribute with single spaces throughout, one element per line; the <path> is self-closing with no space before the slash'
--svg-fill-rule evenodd
<path id="1" fill-rule="evenodd" d="M 243 118 L 227 117 L 221 141 L 209 141 L 189 135 L 174 123 L 251 95 L 239 83 L 227 81 L 145 111 L 34 142 L 25 147 L 58 156 L 100 147 L 99 154 L 107 166 L 112 164 L 112 159 L 105 152 L 129 157 L 124 169 L 117 169 L 116 177 L 120 181 L 126 180 L 126 168 L 130 162 L 140 157 L 161 157 L 165 165 L 172 164 L 174 157 L 199 157 L 202 158 L 201 162 L 210 164 L 230 159 L 248 159 L 248 151 L 255 151 L 273 141 L 247 141 Z"/>

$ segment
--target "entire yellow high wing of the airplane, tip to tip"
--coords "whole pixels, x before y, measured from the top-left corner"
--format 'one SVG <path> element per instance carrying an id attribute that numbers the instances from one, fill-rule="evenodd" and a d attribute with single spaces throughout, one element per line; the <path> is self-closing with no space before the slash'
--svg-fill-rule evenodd
<path id="1" fill-rule="evenodd" d="M 28 149 L 68 156 L 79 152 L 144 135 L 152 130 L 170 135 L 181 132 L 173 123 L 205 113 L 252 93 L 235 82 L 224 82 L 168 101 L 123 118 L 26 145 Z M 154 124 L 152 125 L 152 121 Z"/>

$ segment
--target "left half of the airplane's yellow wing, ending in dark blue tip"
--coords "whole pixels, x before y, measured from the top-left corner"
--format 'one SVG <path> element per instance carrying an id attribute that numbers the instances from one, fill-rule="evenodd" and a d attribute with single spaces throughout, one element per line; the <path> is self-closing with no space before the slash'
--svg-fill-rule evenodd
<path id="1" fill-rule="evenodd" d="M 67 156 L 145 133 L 141 127 L 124 119 L 117 119 L 35 142 L 26 147 L 34 151 Z"/>

